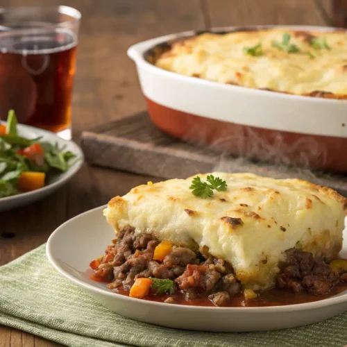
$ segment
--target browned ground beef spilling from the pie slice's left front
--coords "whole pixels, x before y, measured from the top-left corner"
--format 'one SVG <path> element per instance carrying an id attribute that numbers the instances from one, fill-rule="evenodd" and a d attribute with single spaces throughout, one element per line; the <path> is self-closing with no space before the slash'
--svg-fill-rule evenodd
<path id="1" fill-rule="evenodd" d="M 110 289 L 122 286 L 130 290 L 136 278 L 169 279 L 174 280 L 187 300 L 208 295 L 215 305 L 225 305 L 240 291 L 232 266 L 212 257 L 208 248 L 194 252 L 174 247 L 158 262 L 153 260 L 158 239 L 146 233 L 135 235 L 131 227 L 119 231 L 113 243 L 94 271 L 95 276 L 112 281 L 108 285 Z"/>

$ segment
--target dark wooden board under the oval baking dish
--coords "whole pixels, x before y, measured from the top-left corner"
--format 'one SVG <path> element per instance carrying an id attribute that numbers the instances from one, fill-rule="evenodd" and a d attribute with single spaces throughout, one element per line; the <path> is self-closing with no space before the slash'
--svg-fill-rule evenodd
<path id="1" fill-rule="evenodd" d="M 135 174 L 187 178 L 196 173 L 212 171 L 251 172 L 273 178 L 310 180 L 347 196 L 347 176 L 255 163 L 189 144 L 156 128 L 146 112 L 84 131 L 81 145 L 90 164 Z"/>

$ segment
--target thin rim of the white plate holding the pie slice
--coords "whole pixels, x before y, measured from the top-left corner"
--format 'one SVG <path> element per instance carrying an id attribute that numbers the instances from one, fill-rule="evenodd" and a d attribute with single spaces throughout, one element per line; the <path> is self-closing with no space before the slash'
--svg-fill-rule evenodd
<path id="1" fill-rule="evenodd" d="M 72 282 L 75 282 L 77 285 L 84 287 L 85 289 L 88 289 L 89 291 L 94 291 L 96 294 L 101 294 L 103 296 L 107 296 L 108 298 L 115 298 L 115 295 L 117 295 L 119 299 L 125 300 L 125 301 L 133 301 L 133 303 L 139 303 L 144 305 L 155 305 L 158 307 L 169 307 L 169 309 L 176 309 L 176 310 L 187 310 L 190 312 L 194 311 L 201 311 L 201 312 L 218 312 L 220 310 L 223 310 L 224 312 L 230 312 L 237 313 L 237 312 L 245 312 L 247 310 L 248 313 L 280 313 L 280 312 L 291 312 L 291 311 L 300 311 L 300 310 L 314 310 L 318 309 L 320 307 L 325 306 L 332 306 L 337 305 L 339 303 L 344 303 L 347 301 L 347 291 L 345 291 L 346 294 L 341 295 L 340 293 L 337 296 L 332 296 L 331 298 L 325 298 L 320 301 L 312 301 L 309 303 L 300 303 L 300 304 L 294 304 L 294 305 L 280 305 L 280 306 L 262 306 L 262 307 L 208 307 L 208 306 L 194 306 L 194 305 L 171 305 L 167 303 L 160 303 L 156 301 L 147 301 L 143 299 L 138 298 L 130 298 L 129 296 L 124 296 L 121 294 L 114 293 L 112 291 L 108 291 L 105 289 L 101 289 L 99 287 L 94 287 L 93 285 L 88 284 L 87 282 L 84 282 L 83 280 L 79 280 L 75 276 L 71 275 L 69 272 L 65 271 L 65 269 L 60 266 L 59 262 L 56 261 L 56 258 L 53 256 L 52 248 L 54 246 L 54 239 L 57 237 L 60 230 L 67 228 L 69 226 L 69 223 L 71 221 L 76 221 L 77 219 L 83 219 L 83 217 L 86 214 L 90 214 L 92 212 L 96 212 L 97 210 L 102 211 L 104 208 L 106 208 L 107 205 L 99 206 L 98 208 L 93 208 L 92 210 L 88 210 L 86 212 L 83 212 L 81 214 L 78 214 L 76 217 L 73 217 L 65 223 L 62 223 L 61 226 L 59 226 L 56 230 L 53 231 L 53 233 L 50 235 L 49 239 L 46 243 L 46 256 L 53 265 L 53 267 L 60 272 L 63 276 L 71 280 Z M 101 214 L 102 216 L 102 214 Z M 106 246 L 106 245 L 105 245 Z M 85 268 L 87 269 L 88 264 L 85 264 Z M 217 310 L 217 311 L 216 311 Z"/>

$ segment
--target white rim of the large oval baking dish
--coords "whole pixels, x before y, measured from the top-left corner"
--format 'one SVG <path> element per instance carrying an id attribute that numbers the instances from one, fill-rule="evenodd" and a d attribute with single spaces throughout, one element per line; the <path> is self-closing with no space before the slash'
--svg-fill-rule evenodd
<path id="1" fill-rule="evenodd" d="M 127 54 L 128 57 L 131 58 L 137 65 L 141 66 L 142 68 L 146 69 L 147 71 L 151 71 L 153 74 L 160 74 L 162 76 L 167 76 L 168 78 L 176 78 L 178 81 L 183 81 L 185 83 L 192 83 L 192 84 L 201 84 L 201 85 L 210 85 L 214 88 L 220 88 L 224 90 L 234 90 L 238 92 L 245 92 L 247 94 L 258 94 L 263 96 L 269 96 L 273 98 L 281 98 L 281 99 L 291 99 L 291 100 L 305 100 L 307 103 L 330 103 L 330 104 L 336 104 L 336 103 L 347 103 L 346 99 L 328 99 L 328 98 L 319 98 L 319 97 L 313 97 L 313 96 L 306 96 L 306 95 L 296 95 L 296 94 L 286 94 L 283 92 L 276 92 L 272 90 L 260 90 L 256 88 L 249 88 L 244 87 L 242 85 L 228 85 L 226 83 L 219 83 L 216 81 L 209 81 L 205 80 L 203 78 L 196 78 L 192 76 L 185 76 L 178 74 L 173 71 L 168 71 L 165 69 L 161 69 L 160 67 L 156 67 L 155 65 L 151 64 L 144 58 L 144 53 L 152 49 L 154 46 L 157 46 L 158 44 L 163 44 L 164 42 L 170 42 L 172 40 L 179 40 L 184 37 L 189 37 L 192 35 L 196 35 L 196 33 L 204 32 L 204 31 L 232 31 L 237 28 L 244 29 L 244 28 L 288 28 L 298 31 L 323 31 L 323 32 L 331 32 L 331 31 L 344 31 L 344 28 L 337 28 L 337 27 L 331 27 L 331 26 L 300 26 L 300 25 L 246 25 L 246 26 L 221 26 L 221 27 L 215 27 L 210 28 L 208 30 L 201 30 L 201 31 L 183 31 L 180 33 L 174 33 L 169 35 L 163 35 L 160 37 L 155 37 L 150 40 L 145 40 L 142 42 L 138 42 L 137 44 L 133 44 L 128 48 Z M 347 29 L 346 29 L 347 32 Z M 265 93 L 265 94 L 264 94 Z"/>

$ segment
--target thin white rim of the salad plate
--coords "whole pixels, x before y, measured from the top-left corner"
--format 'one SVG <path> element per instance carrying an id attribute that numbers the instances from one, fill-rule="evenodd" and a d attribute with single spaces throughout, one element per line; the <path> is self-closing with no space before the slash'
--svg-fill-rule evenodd
<path id="1" fill-rule="evenodd" d="M 6 124 L 6 121 L 0 121 L 0 124 Z M 72 176 L 74 176 L 78 172 L 78 170 L 81 169 L 83 162 L 85 160 L 84 155 L 83 155 L 83 151 L 80 149 L 78 144 L 76 144 L 76 142 L 62 139 L 61 137 L 58 137 L 58 135 L 56 135 L 55 133 L 52 133 L 49 130 L 35 128 L 33 126 L 27 126 L 25 124 L 18 124 L 17 126 L 19 129 L 22 129 L 24 131 L 25 130 L 31 130 L 33 133 L 37 133 L 38 137 L 40 137 L 40 135 L 47 135 L 50 137 L 56 137 L 56 139 L 58 139 L 59 142 L 63 142 L 65 144 L 72 144 L 72 146 L 75 147 L 76 154 L 81 159 L 78 160 L 78 162 L 76 162 L 69 170 L 66 171 L 65 177 L 56 180 L 56 182 L 50 183 L 49 185 L 45 185 L 44 187 L 42 187 L 40 189 L 33 190 L 31 192 L 24 192 L 24 193 L 20 193 L 17 195 L 6 196 L 5 198 L 0 198 L 0 203 L 6 203 L 8 201 L 12 202 L 12 201 L 16 201 L 16 200 L 19 200 L 22 198 L 29 198 L 31 196 L 34 196 L 34 195 L 37 195 L 40 193 L 44 193 L 48 190 L 54 189 L 55 187 L 59 187 L 60 185 L 66 183 L 68 180 L 70 180 L 72 178 Z"/>

